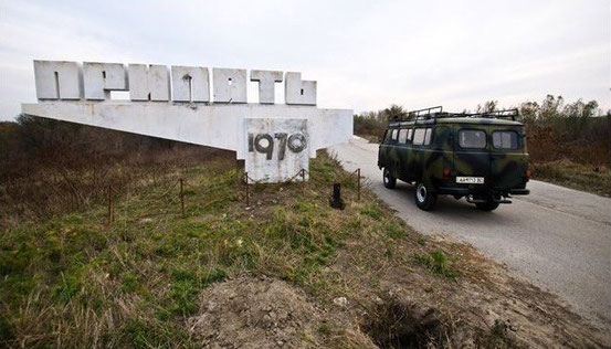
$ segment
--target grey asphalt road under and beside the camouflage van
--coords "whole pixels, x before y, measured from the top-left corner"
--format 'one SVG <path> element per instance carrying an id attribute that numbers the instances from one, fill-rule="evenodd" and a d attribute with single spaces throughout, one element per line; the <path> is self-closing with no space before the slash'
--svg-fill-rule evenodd
<path id="1" fill-rule="evenodd" d="M 493 212 L 446 195 L 424 212 L 411 186 L 383 187 L 378 145 L 355 137 L 329 150 L 418 231 L 472 244 L 611 332 L 611 199 L 533 180 L 529 195 Z"/>

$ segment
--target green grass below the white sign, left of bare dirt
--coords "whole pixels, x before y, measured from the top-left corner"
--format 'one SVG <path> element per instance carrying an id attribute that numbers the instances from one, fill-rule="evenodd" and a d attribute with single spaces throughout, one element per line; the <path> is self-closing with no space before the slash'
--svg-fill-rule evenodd
<path id="1" fill-rule="evenodd" d="M 277 203 L 251 210 L 238 184 L 241 172 L 211 167 L 182 170 L 186 218 L 177 187 L 151 184 L 117 194 L 109 228 L 101 205 L 4 230 L 0 345 L 197 347 L 185 320 L 213 283 L 249 272 L 330 294 L 337 286 L 320 271 L 347 239 L 372 232 L 390 244 L 407 236 L 372 194 L 355 203 L 354 178 L 326 155 L 310 162 L 305 190 L 254 186 L 251 202 Z M 335 181 L 354 207 L 328 208 Z"/>

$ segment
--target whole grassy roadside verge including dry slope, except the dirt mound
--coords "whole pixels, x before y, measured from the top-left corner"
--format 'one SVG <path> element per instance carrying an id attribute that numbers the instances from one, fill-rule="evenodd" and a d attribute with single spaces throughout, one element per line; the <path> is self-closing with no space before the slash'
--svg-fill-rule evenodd
<path id="1" fill-rule="evenodd" d="M 253 186 L 251 208 L 238 183 L 242 172 L 227 161 L 177 171 L 187 179 L 185 219 L 177 188 L 150 184 L 120 195 L 110 228 L 105 207 L 92 204 L 4 229 L 0 345 L 199 347 L 188 319 L 200 308 L 200 294 L 244 272 L 303 287 L 324 310 L 317 326 L 324 347 L 362 347 L 370 339 L 359 328 L 381 346 L 597 343 L 598 335 L 555 308 L 549 295 L 516 296 L 514 287 L 525 286 L 512 286 L 485 258 L 470 257 L 472 248 L 423 237 L 367 189 L 357 202 L 354 179 L 325 154 L 310 161 L 305 187 Z M 335 181 L 343 183 L 344 211 L 328 208 Z M 348 299 L 345 309 L 333 303 L 340 296 Z M 520 302 L 520 313 L 505 302 Z M 405 327 L 402 318 L 422 326 Z M 515 339 L 499 339 L 503 326 L 494 327 L 507 318 L 522 326 L 510 331 Z M 379 336 L 375 329 L 389 321 L 397 331 Z M 544 339 L 534 337 L 539 332 Z"/>

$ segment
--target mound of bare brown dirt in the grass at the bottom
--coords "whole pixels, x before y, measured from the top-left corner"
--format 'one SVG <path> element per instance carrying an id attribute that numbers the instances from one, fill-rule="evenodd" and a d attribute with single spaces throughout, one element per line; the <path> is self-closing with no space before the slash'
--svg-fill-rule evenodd
<path id="1" fill-rule="evenodd" d="M 320 340 L 323 310 L 285 282 L 241 276 L 207 289 L 201 299 L 189 328 L 203 346 L 303 348 Z"/>

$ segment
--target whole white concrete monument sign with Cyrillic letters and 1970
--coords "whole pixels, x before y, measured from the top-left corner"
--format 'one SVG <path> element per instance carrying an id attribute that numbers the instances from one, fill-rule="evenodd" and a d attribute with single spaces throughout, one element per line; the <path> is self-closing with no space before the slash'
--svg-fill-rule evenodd
<path id="1" fill-rule="evenodd" d="M 263 182 L 293 178 L 308 169 L 316 150 L 352 136 L 352 110 L 317 108 L 316 82 L 301 73 L 251 71 L 259 104 L 246 103 L 246 70 L 211 73 L 201 66 L 34 61 L 39 103 L 22 104 L 22 112 L 234 150 L 249 176 Z M 275 104 L 283 81 L 285 104 Z M 129 101 L 112 99 L 113 91 L 129 92 Z"/>

